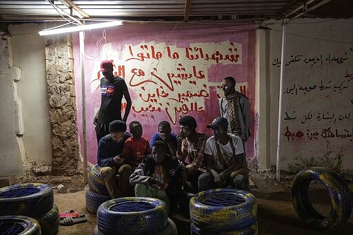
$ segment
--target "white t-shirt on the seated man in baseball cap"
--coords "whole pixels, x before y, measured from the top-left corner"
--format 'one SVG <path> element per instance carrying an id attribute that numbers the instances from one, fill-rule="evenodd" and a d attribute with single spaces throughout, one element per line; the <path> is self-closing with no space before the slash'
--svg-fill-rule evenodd
<path id="1" fill-rule="evenodd" d="M 233 144 L 234 144 L 234 151 L 235 154 L 243 154 L 243 143 L 240 139 L 239 136 L 236 136 L 234 134 L 229 134 L 230 137 L 232 138 Z M 221 154 L 223 156 L 223 159 L 225 163 L 228 165 L 228 167 L 233 163 L 233 151 L 232 151 L 232 146 L 230 145 L 230 142 L 226 145 L 222 145 L 219 143 L 219 149 L 221 150 Z M 225 167 L 223 167 L 222 162 L 219 160 L 218 154 L 217 154 L 217 148 L 216 148 L 216 138 L 214 136 L 211 136 L 208 138 L 208 140 L 205 143 L 205 154 L 209 154 L 212 156 L 212 163 L 214 164 L 214 168 L 216 170 L 225 170 Z M 245 166 L 245 165 L 244 165 Z"/>

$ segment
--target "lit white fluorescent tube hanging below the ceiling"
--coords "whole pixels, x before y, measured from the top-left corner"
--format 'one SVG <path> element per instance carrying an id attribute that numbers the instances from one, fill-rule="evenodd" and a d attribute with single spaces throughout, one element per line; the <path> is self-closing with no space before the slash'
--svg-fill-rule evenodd
<path id="1" fill-rule="evenodd" d="M 52 34 L 63 34 L 66 32 L 93 30 L 95 28 L 108 28 L 108 27 L 122 25 L 122 24 L 123 24 L 123 21 L 109 21 L 104 23 L 92 23 L 90 25 L 79 25 L 79 26 L 68 27 L 68 28 L 56 28 L 53 30 L 41 30 L 38 33 L 39 33 L 39 36 L 46 36 L 46 35 L 52 35 Z"/>

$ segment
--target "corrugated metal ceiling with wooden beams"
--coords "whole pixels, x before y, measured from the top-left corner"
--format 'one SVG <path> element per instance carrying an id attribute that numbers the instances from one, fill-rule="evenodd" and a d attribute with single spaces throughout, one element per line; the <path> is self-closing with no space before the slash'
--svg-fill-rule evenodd
<path id="1" fill-rule="evenodd" d="M 350 18 L 352 0 L 0 1 L 0 22 L 121 19 L 132 21 L 263 21 Z"/>

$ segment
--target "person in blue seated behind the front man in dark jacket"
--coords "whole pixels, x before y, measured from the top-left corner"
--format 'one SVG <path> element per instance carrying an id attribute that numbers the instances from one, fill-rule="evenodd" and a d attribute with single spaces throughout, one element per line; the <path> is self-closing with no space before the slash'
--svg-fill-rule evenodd
<path id="1" fill-rule="evenodd" d="M 172 133 L 172 128 L 168 121 L 161 121 L 158 124 L 158 132 L 154 133 L 150 141 L 150 146 L 152 147 L 154 141 L 163 141 L 165 144 L 165 151 L 167 154 L 176 156 L 177 152 L 177 134 Z"/>

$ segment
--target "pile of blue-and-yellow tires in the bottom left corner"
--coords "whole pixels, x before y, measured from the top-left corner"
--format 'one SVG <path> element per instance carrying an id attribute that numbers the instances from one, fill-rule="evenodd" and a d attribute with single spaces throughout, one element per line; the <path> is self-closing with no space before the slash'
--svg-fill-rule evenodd
<path id="1" fill-rule="evenodd" d="M 59 209 L 50 185 L 26 183 L 0 189 L 0 234 L 57 234 Z"/>

